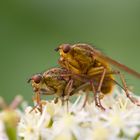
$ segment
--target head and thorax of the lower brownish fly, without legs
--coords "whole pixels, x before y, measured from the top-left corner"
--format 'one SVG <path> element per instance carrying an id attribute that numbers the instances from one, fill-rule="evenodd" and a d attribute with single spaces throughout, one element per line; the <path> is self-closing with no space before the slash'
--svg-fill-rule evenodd
<path id="1" fill-rule="evenodd" d="M 79 88 L 85 82 L 79 79 L 73 79 L 72 87 L 70 81 L 74 78 L 71 73 L 65 68 L 52 68 L 42 74 L 35 74 L 30 79 L 34 92 L 39 92 L 43 95 L 56 95 L 64 97 L 69 94 L 74 94 L 74 90 Z M 88 85 L 79 90 L 85 90 Z M 78 90 L 78 91 L 79 91 Z"/>

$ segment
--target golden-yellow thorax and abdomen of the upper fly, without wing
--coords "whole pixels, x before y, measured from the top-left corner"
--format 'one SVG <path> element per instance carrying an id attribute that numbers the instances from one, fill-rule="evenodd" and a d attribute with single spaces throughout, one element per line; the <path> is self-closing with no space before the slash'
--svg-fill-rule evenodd
<path id="1" fill-rule="evenodd" d="M 103 68 L 106 72 L 110 72 L 109 63 L 98 57 L 93 57 L 93 47 L 87 44 L 76 44 L 70 46 L 70 50 L 64 51 L 63 45 L 59 47 L 60 59 L 59 64 L 71 71 L 73 74 L 86 75 L 92 79 L 97 89 Z M 101 92 L 103 94 L 110 93 L 114 86 L 114 77 L 112 74 L 105 75 Z"/>

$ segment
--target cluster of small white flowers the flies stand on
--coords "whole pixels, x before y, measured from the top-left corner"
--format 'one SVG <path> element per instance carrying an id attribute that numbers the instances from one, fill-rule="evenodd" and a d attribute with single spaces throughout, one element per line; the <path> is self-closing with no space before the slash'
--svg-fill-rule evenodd
<path id="1" fill-rule="evenodd" d="M 74 103 L 46 101 L 43 111 L 32 112 L 28 106 L 22 113 L 17 135 L 22 140 L 138 140 L 140 139 L 140 107 L 115 90 L 102 103 L 105 111 L 94 102 L 82 108 L 85 96 Z M 138 98 L 138 97 L 137 97 Z M 140 98 L 139 98 L 140 99 Z"/>

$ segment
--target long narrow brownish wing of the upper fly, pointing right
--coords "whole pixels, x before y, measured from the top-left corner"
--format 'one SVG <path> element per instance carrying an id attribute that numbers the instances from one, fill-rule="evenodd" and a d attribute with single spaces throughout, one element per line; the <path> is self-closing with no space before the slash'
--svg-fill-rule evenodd
<path id="1" fill-rule="evenodd" d="M 102 54 L 100 51 L 94 49 L 93 51 L 93 55 L 97 58 L 97 59 L 102 59 L 104 61 L 107 61 L 109 64 L 118 67 L 119 69 L 126 71 L 127 73 L 140 78 L 140 73 L 136 72 L 135 70 L 125 66 L 124 64 L 121 64 L 120 62 Z"/>

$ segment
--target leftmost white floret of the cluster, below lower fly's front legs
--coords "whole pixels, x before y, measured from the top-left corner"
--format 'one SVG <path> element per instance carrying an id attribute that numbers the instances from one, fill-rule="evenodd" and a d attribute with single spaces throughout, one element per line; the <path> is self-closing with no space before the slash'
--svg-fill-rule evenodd
<path id="1" fill-rule="evenodd" d="M 31 107 L 26 108 L 25 114 L 18 125 L 18 135 L 25 140 L 38 140 L 47 131 L 44 128 L 49 125 L 50 115 L 46 115 L 46 108 L 44 108 L 42 114 L 36 110 L 30 112 L 31 109 Z"/>

